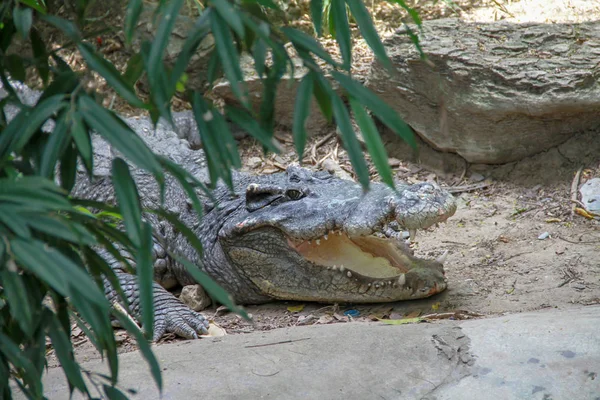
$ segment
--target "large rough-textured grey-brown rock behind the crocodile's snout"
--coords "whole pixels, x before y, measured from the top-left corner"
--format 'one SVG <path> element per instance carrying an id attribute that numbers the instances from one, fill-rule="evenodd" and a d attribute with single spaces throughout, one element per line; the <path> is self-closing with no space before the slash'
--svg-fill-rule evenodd
<path id="1" fill-rule="evenodd" d="M 442 19 L 420 40 L 431 65 L 399 31 L 386 41 L 396 73 L 375 63 L 367 86 L 438 150 L 506 163 L 600 126 L 600 22 Z"/>

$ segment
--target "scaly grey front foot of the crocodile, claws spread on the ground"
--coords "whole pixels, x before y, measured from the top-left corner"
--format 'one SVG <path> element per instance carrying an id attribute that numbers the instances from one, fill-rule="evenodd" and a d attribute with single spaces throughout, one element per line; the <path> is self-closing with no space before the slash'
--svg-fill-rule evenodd
<path id="1" fill-rule="evenodd" d="M 170 293 L 155 297 L 155 322 L 153 340 L 158 341 L 165 333 L 171 332 L 186 339 L 198 339 L 198 335 L 208 333 L 208 320 L 183 304 Z M 168 295 L 168 296 L 167 296 Z"/>

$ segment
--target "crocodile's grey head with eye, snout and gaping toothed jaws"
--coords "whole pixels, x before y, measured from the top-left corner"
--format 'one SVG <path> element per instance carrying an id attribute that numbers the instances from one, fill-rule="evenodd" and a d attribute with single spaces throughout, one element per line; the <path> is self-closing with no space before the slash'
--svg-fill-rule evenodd
<path id="1" fill-rule="evenodd" d="M 443 261 L 413 256 L 412 239 L 454 214 L 437 185 L 360 185 L 326 172 L 289 167 L 244 182 L 241 212 L 219 230 L 234 268 L 272 299 L 385 302 L 446 288 Z M 241 204 L 240 204 L 241 205 Z M 394 228 L 394 229 L 393 229 Z"/>

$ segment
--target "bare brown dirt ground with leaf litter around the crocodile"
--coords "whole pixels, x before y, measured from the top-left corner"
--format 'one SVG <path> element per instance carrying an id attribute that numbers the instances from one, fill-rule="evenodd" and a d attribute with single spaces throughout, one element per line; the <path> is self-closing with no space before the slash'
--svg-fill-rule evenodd
<path id="1" fill-rule="evenodd" d="M 424 19 L 458 14 L 470 20 L 546 18 L 557 22 L 600 15 L 600 7 L 595 6 L 595 2 L 585 1 L 544 1 L 544 5 L 537 0 L 458 2 L 459 5 L 464 3 L 463 11 L 443 2 L 436 6 L 422 4 L 429 2 L 415 3 Z M 541 9 L 545 11 L 540 12 Z M 385 19 L 385 10 L 391 12 L 388 8 L 379 10 L 377 20 Z M 251 139 L 240 142 L 245 170 L 273 173 L 297 161 L 289 132 L 281 131 L 277 135 L 285 146 L 285 151 L 278 156 L 263 156 L 261 147 Z M 330 159 L 345 172 L 352 173 L 333 128 L 313 137 L 307 148 L 305 166 L 323 168 L 323 162 Z M 543 156 L 538 159 L 544 165 Z M 249 306 L 246 309 L 253 316 L 252 322 L 214 307 L 205 310 L 204 315 L 227 334 L 242 334 L 296 325 L 364 320 L 483 318 L 600 303 L 600 222 L 572 212 L 571 185 L 576 168 L 557 171 L 557 175 L 566 176 L 565 179 L 532 185 L 531 182 L 536 181 L 536 169 L 523 179 L 495 181 L 476 172 L 466 176 L 442 176 L 396 159 L 391 159 L 390 165 L 399 179 L 433 180 L 455 192 L 459 203 L 456 214 L 438 228 L 420 231 L 415 246 L 416 255 L 421 257 L 433 258 L 449 251 L 445 292 L 426 300 L 380 305 L 279 302 Z M 600 156 L 583 167 L 581 183 L 600 176 Z M 373 168 L 372 171 L 372 178 L 377 180 Z M 83 334 L 76 331 L 74 335 L 78 356 L 94 357 L 90 352 L 92 346 Z M 119 332 L 118 337 L 121 351 L 135 349 L 134 342 L 124 332 Z M 160 343 L 176 340 L 181 339 L 167 336 Z M 49 363 L 56 365 L 51 354 Z"/>

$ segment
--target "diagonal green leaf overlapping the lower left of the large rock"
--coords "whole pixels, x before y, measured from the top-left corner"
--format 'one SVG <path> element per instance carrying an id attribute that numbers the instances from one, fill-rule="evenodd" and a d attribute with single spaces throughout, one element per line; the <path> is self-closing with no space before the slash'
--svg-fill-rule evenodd
<path id="1" fill-rule="evenodd" d="M 377 118 L 381 120 L 386 126 L 392 131 L 399 135 L 406 143 L 408 143 L 413 149 L 417 148 L 417 142 L 412 133 L 412 130 L 400 116 L 381 100 L 375 93 L 364 87 L 361 83 L 353 80 L 352 78 L 337 72 L 332 71 L 333 77 L 348 91 L 350 96 L 355 99 L 360 99 L 360 102 L 366 106 Z"/>

